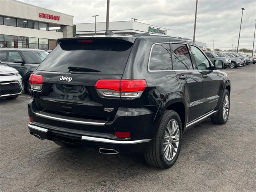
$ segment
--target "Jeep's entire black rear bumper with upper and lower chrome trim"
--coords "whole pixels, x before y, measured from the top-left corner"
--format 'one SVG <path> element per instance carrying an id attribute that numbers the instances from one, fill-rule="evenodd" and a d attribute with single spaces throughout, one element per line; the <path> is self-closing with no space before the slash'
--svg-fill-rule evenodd
<path id="1" fill-rule="evenodd" d="M 34 111 L 33 98 L 28 102 L 30 134 L 42 139 L 79 143 L 90 148 L 112 148 L 118 152 L 145 152 L 155 138 L 154 112 L 149 108 L 119 108 L 112 122 L 74 120 Z M 114 132 L 130 132 L 130 138 L 117 138 Z"/>

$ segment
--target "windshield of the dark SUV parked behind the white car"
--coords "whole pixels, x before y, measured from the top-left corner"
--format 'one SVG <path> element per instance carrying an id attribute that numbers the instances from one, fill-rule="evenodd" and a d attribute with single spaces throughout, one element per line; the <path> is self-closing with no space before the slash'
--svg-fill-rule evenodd
<path id="1" fill-rule="evenodd" d="M 37 64 L 37 63 L 41 63 L 42 60 L 46 58 L 46 56 L 48 55 L 48 52 L 29 50 L 29 51 L 22 51 L 22 54 L 24 55 L 24 57 L 26 58 L 26 61 L 29 64 Z"/>

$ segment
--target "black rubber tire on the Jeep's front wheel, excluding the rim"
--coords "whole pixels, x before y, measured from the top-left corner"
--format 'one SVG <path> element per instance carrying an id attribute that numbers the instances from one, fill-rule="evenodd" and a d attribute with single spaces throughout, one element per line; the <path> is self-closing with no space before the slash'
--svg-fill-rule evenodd
<path id="1" fill-rule="evenodd" d="M 224 100 L 225 100 L 226 95 L 228 96 L 228 114 L 227 114 L 226 119 L 224 119 L 223 110 L 224 110 Z M 228 121 L 229 112 L 230 112 L 230 94 L 229 94 L 228 90 L 225 89 L 225 91 L 223 93 L 223 97 L 221 99 L 220 109 L 218 110 L 218 113 L 216 114 L 216 116 L 211 117 L 212 122 L 215 124 L 225 124 Z"/>

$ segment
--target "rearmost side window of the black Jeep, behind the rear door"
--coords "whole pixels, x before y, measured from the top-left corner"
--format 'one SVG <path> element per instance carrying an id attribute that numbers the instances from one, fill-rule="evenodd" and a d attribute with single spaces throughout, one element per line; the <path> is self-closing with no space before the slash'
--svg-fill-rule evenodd
<path id="1" fill-rule="evenodd" d="M 150 56 L 150 70 L 172 70 L 170 44 L 156 44 Z"/>

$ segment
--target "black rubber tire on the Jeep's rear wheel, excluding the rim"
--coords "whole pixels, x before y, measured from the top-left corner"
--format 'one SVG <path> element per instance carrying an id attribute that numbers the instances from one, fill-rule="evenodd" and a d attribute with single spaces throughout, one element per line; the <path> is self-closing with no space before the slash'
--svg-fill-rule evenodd
<path id="1" fill-rule="evenodd" d="M 176 154 L 174 155 L 173 159 L 167 160 L 166 157 L 164 156 L 163 143 L 164 143 L 164 135 L 165 135 L 167 124 L 171 120 L 176 120 L 176 122 L 179 125 L 179 133 L 178 133 L 179 143 L 178 143 Z M 170 168 L 176 162 L 179 156 L 181 143 L 182 143 L 182 123 L 180 120 L 180 116 L 175 111 L 166 110 L 160 122 L 160 126 L 156 134 L 156 139 L 154 140 L 154 143 L 152 144 L 150 149 L 144 153 L 144 158 L 146 162 L 151 166 L 163 168 L 163 169 Z"/>

